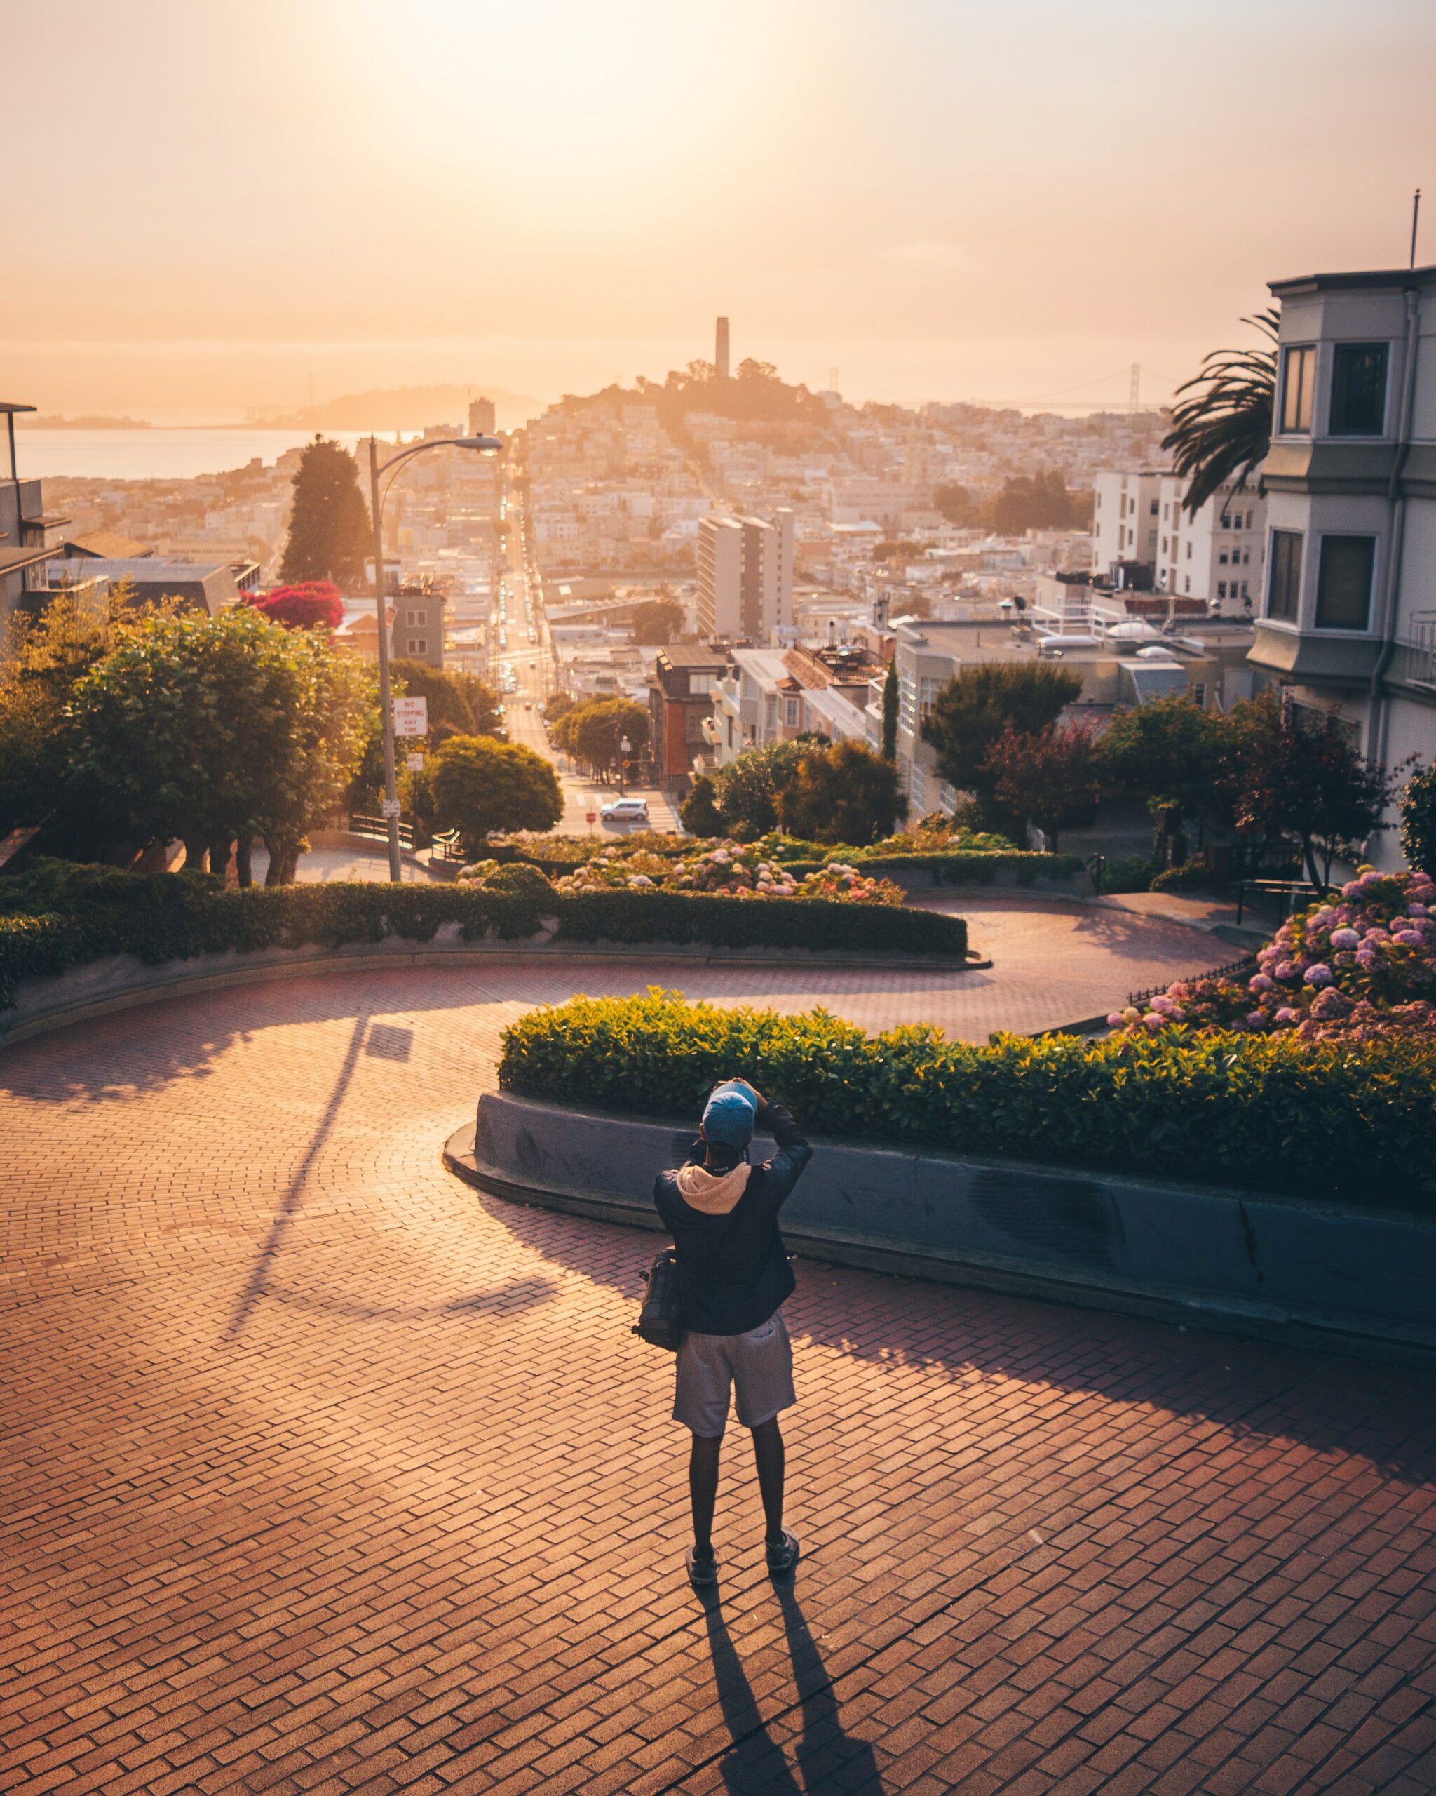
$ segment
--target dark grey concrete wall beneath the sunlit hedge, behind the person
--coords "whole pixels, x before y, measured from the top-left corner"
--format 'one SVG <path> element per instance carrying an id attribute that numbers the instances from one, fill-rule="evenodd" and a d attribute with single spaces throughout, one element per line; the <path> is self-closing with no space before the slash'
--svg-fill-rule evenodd
<path id="1" fill-rule="evenodd" d="M 659 1230 L 689 1130 L 485 1092 L 445 1166 L 512 1203 Z M 1407 1365 L 1436 1365 L 1436 1223 L 1397 1211 L 815 1142 L 784 1209 L 806 1259 Z M 1335 1297 L 1344 1302 L 1334 1302 Z"/>

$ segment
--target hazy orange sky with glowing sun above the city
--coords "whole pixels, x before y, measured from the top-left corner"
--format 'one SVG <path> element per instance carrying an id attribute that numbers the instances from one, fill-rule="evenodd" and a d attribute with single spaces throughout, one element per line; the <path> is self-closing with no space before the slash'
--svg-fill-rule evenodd
<path id="1" fill-rule="evenodd" d="M 1431 0 L 0 0 L 0 397 L 1165 397 L 1436 260 Z"/>

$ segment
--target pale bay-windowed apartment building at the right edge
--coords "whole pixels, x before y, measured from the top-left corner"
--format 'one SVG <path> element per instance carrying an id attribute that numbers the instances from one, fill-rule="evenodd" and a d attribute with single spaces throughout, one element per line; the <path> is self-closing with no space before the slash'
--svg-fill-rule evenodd
<path id="1" fill-rule="evenodd" d="M 1271 282 L 1267 555 L 1251 659 L 1361 749 L 1436 756 L 1436 268 Z M 1395 814 L 1389 817 L 1395 823 Z M 1400 864 L 1395 830 L 1368 848 Z"/>

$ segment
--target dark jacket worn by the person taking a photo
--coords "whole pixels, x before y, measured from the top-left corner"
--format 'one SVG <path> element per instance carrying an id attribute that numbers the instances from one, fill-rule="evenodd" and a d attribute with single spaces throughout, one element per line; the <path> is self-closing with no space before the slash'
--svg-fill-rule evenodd
<path id="1" fill-rule="evenodd" d="M 777 1212 L 813 1149 L 783 1105 L 766 1105 L 757 1121 L 772 1133 L 777 1153 L 749 1171 L 747 1187 L 727 1214 L 695 1209 L 679 1191 L 677 1169 L 659 1173 L 653 1184 L 653 1203 L 679 1255 L 684 1322 L 695 1334 L 747 1334 L 793 1290 Z M 698 1139 L 687 1164 L 702 1158 Z"/>

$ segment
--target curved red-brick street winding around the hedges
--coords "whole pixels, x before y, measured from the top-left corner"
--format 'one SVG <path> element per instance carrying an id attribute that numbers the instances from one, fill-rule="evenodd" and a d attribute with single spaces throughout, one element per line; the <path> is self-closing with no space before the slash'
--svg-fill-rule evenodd
<path id="1" fill-rule="evenodd" d="M 982 1036 L 1228 957 L 962 909 L 993 975 L 648 975 Z M 700 1606 L 652 1237 L 438 1160 L 574 982 L 641 981 L 355 972 L 0 1054 L 0 1789 L 1431 1796 L 1429 1374 L 804 1264 L 804 1561 L 761 1573 L 734 1437 Z"/>

